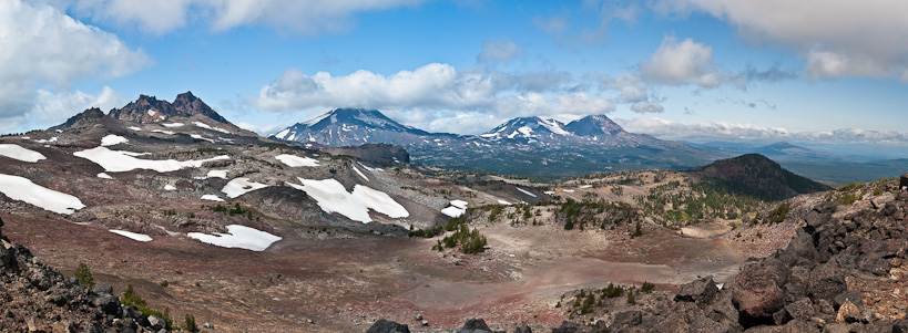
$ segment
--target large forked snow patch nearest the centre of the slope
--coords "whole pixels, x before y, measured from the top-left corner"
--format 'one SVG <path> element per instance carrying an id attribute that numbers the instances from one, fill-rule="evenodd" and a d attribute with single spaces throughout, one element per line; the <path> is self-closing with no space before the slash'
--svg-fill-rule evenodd
<path id="1" fill-rule="evenodd" d="M 387 215 L 390 218 L 404 218 L 410 216 L 404 206 L 397 204 L 388 194 L 357 185 L 353 192 L 347 192 L 344 185 L 336 179 L 312 180 L 299 178 L 297 185 L 286 183 L 288 186 L 305 191 L 318 202 L 318 207 L 325 212 L 338 212 L 347 218 L 364 223 L 371 222 L 369 209 Z"/>

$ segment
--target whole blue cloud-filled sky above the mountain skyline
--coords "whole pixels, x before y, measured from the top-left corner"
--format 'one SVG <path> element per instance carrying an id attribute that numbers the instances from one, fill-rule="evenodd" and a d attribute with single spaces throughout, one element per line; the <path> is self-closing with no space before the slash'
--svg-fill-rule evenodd
<path id="1" fill-rule="evenodd" d="M 906 13 L 891 0 L 0 0 L 0 132 L 192 91 L 261 134 L 363 107 L 458 134 L 605 114 L 665 139 L 908 152 Z"/>

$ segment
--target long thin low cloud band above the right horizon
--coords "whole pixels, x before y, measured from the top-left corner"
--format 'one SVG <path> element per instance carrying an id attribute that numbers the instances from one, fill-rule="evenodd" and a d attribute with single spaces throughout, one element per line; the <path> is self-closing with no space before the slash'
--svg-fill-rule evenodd
<path id="1" fill-rule="evenodd" d="M 665 139 L 728 142 L 806 142 L 824 144 L 884 144 L 908 146 L 908 134 L 894 131 L 841 128 L 830 132 L 797 132 L 784 127 L 728 122 L 681 123 L 657 117 L 615 119 L 624 129 Z"/>

